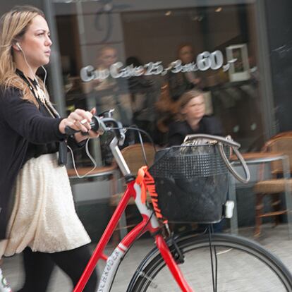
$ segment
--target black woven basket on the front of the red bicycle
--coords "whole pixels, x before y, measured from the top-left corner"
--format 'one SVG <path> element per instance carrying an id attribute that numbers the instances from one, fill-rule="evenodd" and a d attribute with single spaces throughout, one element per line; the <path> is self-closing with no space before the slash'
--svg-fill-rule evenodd
<path id="1" fill-rule="evenodd" d="M 221 221 L 227 199 L 229 153 L 230 145 L 206 139 L 157 152 L 149 172 L 163 217 L 170 222 Z"/>

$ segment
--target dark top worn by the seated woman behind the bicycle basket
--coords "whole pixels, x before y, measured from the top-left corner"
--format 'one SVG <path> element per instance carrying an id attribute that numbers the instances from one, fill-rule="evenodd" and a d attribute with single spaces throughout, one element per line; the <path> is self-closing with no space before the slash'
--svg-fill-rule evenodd
<path id="1" fill-rule="evenodd" d="M 193 130 L 186 121 L 176 121 L 169 125 L 168 145 L 181 145 L 186 135 L 190 134 L 223 135 L 221 123 L 214 116 L 203 116 L 199 128 Z"/>

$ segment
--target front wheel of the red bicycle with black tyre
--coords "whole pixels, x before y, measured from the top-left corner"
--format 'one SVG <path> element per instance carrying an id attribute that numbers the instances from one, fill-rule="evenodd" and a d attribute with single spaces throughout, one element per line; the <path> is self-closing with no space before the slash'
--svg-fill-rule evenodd
<path id="1" fill-rule="evenodd" d="M 212 235 L 212 250 L 215 248 L 217 254 L 215 290 L 208 236 L 187 236 L 176 243 L 184 255 L 184 262 L 179 267 L 196 292 L 292 291 L 292 276 L 288 269 L 253 241 L 224 234 Z M 176 258 L 174 245 L 170 250 Z M 158 250 L 147 256 L 147 263 L 140 264 L 131 284 L 133 288 L 128 291 L 180 291 Z"/>

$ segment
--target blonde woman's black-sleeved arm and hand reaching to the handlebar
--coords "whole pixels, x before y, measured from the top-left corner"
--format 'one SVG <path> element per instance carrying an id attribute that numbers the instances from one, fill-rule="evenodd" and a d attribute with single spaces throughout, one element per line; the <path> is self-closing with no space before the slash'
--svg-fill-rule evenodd
<path id="1" fill-rule="evenodd" d="M 21 98 L 20 90 L 8 89 L 0 97 L 1 116 L 16 133 L 26 140 L 42 144 L 66 139 L 65 128 L 70 126 L 75 130 L 87 132 L 90 130 L 92 114 L 83 109 L 76 109 L 68 118 L 49 118 L 43 116 L 39 109 Z M 89 131 L 89 135 L 98 135 Z M 77 135 L 76 141 L 86 139 L 86 136 Z"/>

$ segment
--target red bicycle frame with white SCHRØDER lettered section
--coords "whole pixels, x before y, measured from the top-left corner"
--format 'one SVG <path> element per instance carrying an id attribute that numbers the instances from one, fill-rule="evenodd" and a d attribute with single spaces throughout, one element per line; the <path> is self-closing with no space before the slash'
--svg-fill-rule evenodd
<path id="1" fill-rule="evenodd" d="M 111 144 L 109 146 L 111 148 L 111 152 L 114 154 L 118 166 L 120 166 L 121 172 L 123 173 L 124 176 L 126 176 L 130 174 L 130 170 L 128 169 L 128 166 L 125 160 L 123 159 L 123 156 L 121 154 L 121 151 L 118 149 L 117 144 L 118 141 L 116 140 L 116 138 L 114 138 L 114 140 L 111 141 Z M 142 221 L 137 226 L 135 226 L 135 228 L 132 229 L 121 240 L 120 243 L 118 243 L 113 253 L 111 253 L 111 255 L 108 257 L 107 255 L 104 255 L 104 249 L 107 247 L 107 243 L 109 243 L 109 239 L 114 233 L 114 229 L 116 229 L 118 221 L 121 218 L 123 212 L 125 211 L 126 206 L 128 205 L 128 201 L 130 200 L 130 197 L 134 198 L 135 205 L 137 205 L 142 215 Z M 166 241 L 164 241 L 162 234 L 159 232 L 160 226 L 157 217 L 152 216 L 153 211 L 150 208 L 148 208 L 145 203 L 142 203 L 141 197 L 142 192 L 140 185 L 138 185 L 138 183 L 135 183 L 135 180 L 127 183 L 126 191 L 123 194 L 121 201 L 118 203 L 118 206 L 116 207 L 116 210 L 113 216 L 111 217 L 109 224 L 107 225 L 107 228 L 104 230 L 102 238 L 100 238 L 99 243 L 97 243 L 97 247 L 95 248 L 92 257 L 90 258 L 90 261 L 87 263 L 87 266 L 85 267 L 85 270 L 82 276 L 80 277 L 78 284 L 75 286 L 73 292 L 83 291 L 88 279 L 90 278 L 90 275 L 92 274 L 93 270 L 97 265 L 97 262 L 101 259 L 106 260 L 107 264 L 104 267 L 104 271 L 100 278 L 97 291 L 98 292 L 110 291 L 111 285 L 114 281 L 114 276 L 116 274 L 116 271 L 121 260 L 123 260 L 123 256 L 126 254 L 127 250 L 133 244 L 135 239 L 142 236 L 142 234 L 144 234 L 146 231 L 150 231 L 150 233 L 154 234 L 157 248 L 159 249 L 159 252 L 161 253 L 167 266 L 169 267 L 171 274 L 174 276 L 174 279 L 176 280 L 178 286 L 181 288 L 181 291 L 186 292 L 193 291 L 192 288 L 190 288 L 190 286 L 188 286 L 188 283 L 185 281 L 183 274 L 181 273 L 181 270 L 178 267 L 178 264 L 176 264 L 174 257 L 171 255 L 171 252 L 169 250 L 168 245 L 166 244 Z"/>

